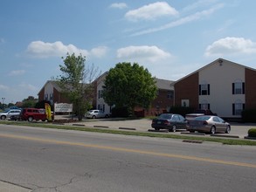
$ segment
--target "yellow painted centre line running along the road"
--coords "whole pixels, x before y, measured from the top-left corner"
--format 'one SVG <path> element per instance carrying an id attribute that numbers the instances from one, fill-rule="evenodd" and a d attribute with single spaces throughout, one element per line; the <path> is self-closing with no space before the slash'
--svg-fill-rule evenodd
<path id="1" fill-rule="evenodd" d="M 210 158 L 203 158 L 203 157 L 189 156 L 189 155 L 182 155 L 182 154 L 164 154 L 164 153 L 156 153 L 156 152 L 152 152 L 152 151 L 144 151 L 144 150 L 131 149 L 131 148 L 99 146 L 99 145 L 85 144 L 85 143 L 80 143 L 80 142 L 46 140 L 46 139 L 41 139 L 41 138 L 20 136 L 20 135 L 13 135 L 13 134 L 0 134 L 0 136 L 5 137 L 5 138 L 15 138 L 15 139 L 29 140 L 29 141 L 51 142 L 51 143 L 55 143 L 55 144 L 80 146 L 80 147 L 94 147 L 94 148 L 108 149 L 108 150 L 113 150 L 113 151 L 122 151 L 122 152 L 137 153 L 137 154 L 151 154 L 151 155 L 156 155 L 156 156 L 177 158 L 177 159 L 183 159 L 183 160 L 205 161 L 205 162 L 233 165 L 233 166 L 239 166 L 239 167 L 256 168 L 256 164 L 251 164 L 251 163 L 214 160 L 214 159 L 210 159 Z"/>

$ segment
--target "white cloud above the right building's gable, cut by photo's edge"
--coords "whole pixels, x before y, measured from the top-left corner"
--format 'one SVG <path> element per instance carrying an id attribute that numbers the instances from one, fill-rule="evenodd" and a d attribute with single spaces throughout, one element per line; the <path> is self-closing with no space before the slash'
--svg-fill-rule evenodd
<path id="1" fill-rule="evenodd" d="M 256 43 L 250 39 L 245 38 L 220 38 L 209 45 L 204 55 L 205 56 L 222 56 L 234 54 L 255 54 Z"/>

